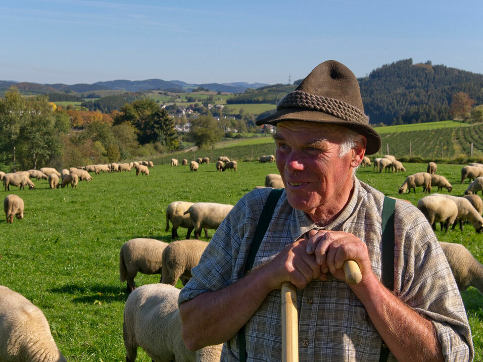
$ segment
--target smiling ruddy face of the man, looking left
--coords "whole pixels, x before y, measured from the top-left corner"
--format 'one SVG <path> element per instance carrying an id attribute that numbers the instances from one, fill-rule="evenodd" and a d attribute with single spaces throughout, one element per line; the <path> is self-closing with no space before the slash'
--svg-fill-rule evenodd
<path id="1" fill-rule="evenodd" d="M 284 121 L 277 124 L 277 168 L 288 202 L 312 221 L 327 221 L 347 203 L 353 187 L 353 168 L 364 148 L 339 157 L 345 128 L 323 123 Z"/>

